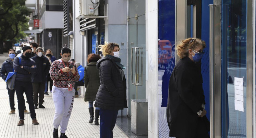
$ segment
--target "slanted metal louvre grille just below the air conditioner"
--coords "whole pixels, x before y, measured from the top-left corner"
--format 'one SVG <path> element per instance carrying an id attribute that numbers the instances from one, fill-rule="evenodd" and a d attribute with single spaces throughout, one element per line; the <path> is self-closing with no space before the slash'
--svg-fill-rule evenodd
<path id="1" fill-rule="evenodd" d="M 80 32 L 93 29 L 96 27 L 96 18 L 80 19 Z"/>

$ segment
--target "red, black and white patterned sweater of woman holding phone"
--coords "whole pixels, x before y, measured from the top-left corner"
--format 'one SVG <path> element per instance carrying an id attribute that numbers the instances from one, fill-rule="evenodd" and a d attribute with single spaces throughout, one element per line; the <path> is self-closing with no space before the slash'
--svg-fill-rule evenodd
<path id="1" fill-rule="evenodd" d="M 64 68 L 64 65 L 62 63 L 62 60 L 55 60 L 50 68 L 51 71 L 51 79 L 53 80 L 53 85 L 60 88 L 68 88 L 68 79 L 70 84 L 72 84 L 72 87 L 75 86 L 75 82 L 77 82 L 80 78 L 78 70 L 76 68 L 76 65 L 72 61 L 68 61 L 69 66 L 73 65 L 75 68 L 75 74 L 72 72 L 63 72 L 61 69 Z M 67 63 L 65 63 L 65 66 L 67 67 Z M 68 76 L 69 75 L 69 76 Z"/>

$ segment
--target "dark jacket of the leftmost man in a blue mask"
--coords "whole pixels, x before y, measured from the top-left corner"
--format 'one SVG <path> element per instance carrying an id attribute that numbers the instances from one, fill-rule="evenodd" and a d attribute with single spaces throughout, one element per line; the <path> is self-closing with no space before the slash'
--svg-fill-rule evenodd
<path id="1" fill-rule="evenodd" d="M 0 75 L 3 78 L 3 80 L 6 79 L 9 72 L 13 72 L 13 67 L 12 61 L 8 58 L 6 59 L 6 61 L 4 61 L 0 70 Z"/>

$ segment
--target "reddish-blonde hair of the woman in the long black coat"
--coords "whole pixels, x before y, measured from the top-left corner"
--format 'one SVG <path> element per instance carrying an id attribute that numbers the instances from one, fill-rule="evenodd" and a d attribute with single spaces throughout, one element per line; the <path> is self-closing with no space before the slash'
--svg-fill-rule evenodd
<path id="1" fill-rule="evenodd" d="M 205 48 L 205 42 L 198 38 L 188 38 L 185 40 L 182 40 L 177 46 L 177 55 L 183 59 L 184 57 L 187 57 L 189 54 L 189 49 L 195 49 L 198 46 L 202 46 Z"/>

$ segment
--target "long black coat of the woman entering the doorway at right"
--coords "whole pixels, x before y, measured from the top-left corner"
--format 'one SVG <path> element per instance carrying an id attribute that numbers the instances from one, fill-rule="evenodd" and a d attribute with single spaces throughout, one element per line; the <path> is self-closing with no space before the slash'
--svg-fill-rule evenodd
<path id="1" fill-rule="evenodd" d="M 194 138 L 196 133 L 206 133 L 209 126 L 206 116 L 197 112 L 205 104 L 202 87 L 201 65 L 188 57 L 181 59 L 174 67 L 169 81 L 167 122 L 169 136 Z"/>

